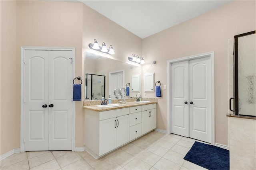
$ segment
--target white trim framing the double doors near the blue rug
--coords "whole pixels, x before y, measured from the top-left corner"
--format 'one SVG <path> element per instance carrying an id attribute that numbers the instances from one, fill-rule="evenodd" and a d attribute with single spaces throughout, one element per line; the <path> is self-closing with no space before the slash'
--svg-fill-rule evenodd
<path id="1" fill-rule="evenodd" d="M 171 111 L 171 90 L 170 90 L 170 85 L 171 85 L 171 64 L 172 63 L 176 63 L 176 62 L 181 62 L 181 61 L 188 61 L 188 60 L 192 60 L 192 59 L 199 59 L 199 58 L 203 58 L 203 57 L 210 57 L 210 61 L 211 61 L 211 65 L 212 65 L 212 140 L 211 140 L 211 145 L 214 145 L 215 143 L 215 104 L 214 104 L 214 51 L 210 51 L 207 53 L 202 53 L 202 54 L 198 54 L 198 55 L 192 55 L 192 56 L 188 56 L 188 57 L 182 57 L 180 59 L 173 59 L 173 60 L 169 60 L 167 61 L 167 84 L 168 84 L 168 88 L 167 88 L 167 133 L 170 134 L 172 133 L 172 129 L 171 129 L 171 115 L 170 115 L 170 111 Z"/>

